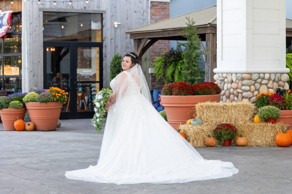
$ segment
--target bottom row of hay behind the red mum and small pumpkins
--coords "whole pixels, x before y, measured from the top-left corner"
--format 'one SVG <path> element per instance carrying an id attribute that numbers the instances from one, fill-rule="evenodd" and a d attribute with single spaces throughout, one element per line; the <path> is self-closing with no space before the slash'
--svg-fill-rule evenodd
<path id="1" fill-rule="evenodd" d="M 213 130 L 217 125 L 203 124 L 192 126 L 189 124 L 181 124 L 179 126 L 181 132 L 185 133 L 187 141 L 193 147 L 203 147 L 204 139 L 208 134 L 214 135 Z M 248 146 L 276 146 L 275 136 L 282 131 L 286 125 L 284 123 L 245 123 L 234 124 L 237 128 L 238 136 L 244 133 L 248 140 Z M 219 140 L 216 140 L 216 145 L 221 145 Z M 235 139 L 232 140 L 232 145 L 235 145 Z"/>

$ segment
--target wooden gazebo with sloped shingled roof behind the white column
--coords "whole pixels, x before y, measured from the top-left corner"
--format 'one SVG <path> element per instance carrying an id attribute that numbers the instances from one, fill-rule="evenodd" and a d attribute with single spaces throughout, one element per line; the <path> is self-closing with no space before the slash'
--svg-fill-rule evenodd
<path id="1" fill-rule="evenodd" d="M 206 41 L 206 48 L 201 44 L 201 50 L 210 50 L 205 56 L 205 81 L 214 82 L 213 69 L 216 68 L 217 51 L 217 10 L 216 6 L 204 8 L 191 13 L 169 18 L 142 27 L 130 29 L 126 34 L 130 34 L 130 39 L 134 40 L 134 51 L 139 58 L 157 41 L 157 40 L 185 40 L 182 36 L 182 30 L 186 27 L 187 19 L 190 17 L 196 23 L 199 30 L 198 34 L 201 41 Z M 286 46 L 291 45 L 292 40 L 292 20 L 286 19 Z M 141 64 L 142 65 L 142 64 Z"/>

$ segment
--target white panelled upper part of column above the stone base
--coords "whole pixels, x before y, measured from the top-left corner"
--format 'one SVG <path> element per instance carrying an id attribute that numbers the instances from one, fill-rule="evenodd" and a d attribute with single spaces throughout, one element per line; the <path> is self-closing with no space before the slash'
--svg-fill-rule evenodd
<path id="1" fill-rule="evenodd" d="M 217 0 L 215 73 L 288 73 L 286 0 Z"/>

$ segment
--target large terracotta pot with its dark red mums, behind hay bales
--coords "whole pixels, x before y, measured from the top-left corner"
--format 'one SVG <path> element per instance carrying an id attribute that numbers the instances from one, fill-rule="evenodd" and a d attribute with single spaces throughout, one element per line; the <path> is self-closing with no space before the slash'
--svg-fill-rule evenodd
<path id="1" fill-rule="evenodd" d="M 177 129 L 194 114 L 193 107 L 200 102 L 219 102 L 221 89 L 218 84 L 204 82 L 193 87 L 186 82 L 170 83 L 161 90 L 161 102 L 165 107 L 168 123 Z"/>

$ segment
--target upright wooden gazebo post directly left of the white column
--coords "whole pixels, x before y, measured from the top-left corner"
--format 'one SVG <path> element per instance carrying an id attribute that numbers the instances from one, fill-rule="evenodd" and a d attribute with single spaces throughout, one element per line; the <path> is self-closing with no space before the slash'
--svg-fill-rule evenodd
<path id="1" fill-rule="evenodd" d="M 205 82 L 215 82 L 213 69 L 216 68 L 216 40 L 217 35 L 216 33 L 206 33 L 206 50 L 209 49 L 206 55 L 206 62 L 205 62 Z M 211 50 L 210 50 L 211 49 Z"/>

